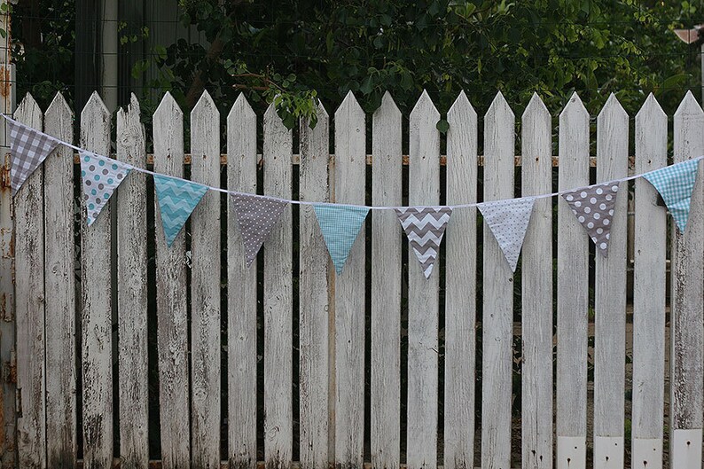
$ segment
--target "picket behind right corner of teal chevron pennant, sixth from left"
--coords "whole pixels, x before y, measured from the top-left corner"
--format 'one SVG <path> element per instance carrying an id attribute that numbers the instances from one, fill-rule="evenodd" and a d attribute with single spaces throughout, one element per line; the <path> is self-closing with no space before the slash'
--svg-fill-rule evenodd
<path id="1" fill-rule="evenodd" d="M 220 114 L 205 91 L 191 112 L 191 179 L 220 187 Z M 220 461 L 220 193 L 191 216 L 191 464 Z"/>

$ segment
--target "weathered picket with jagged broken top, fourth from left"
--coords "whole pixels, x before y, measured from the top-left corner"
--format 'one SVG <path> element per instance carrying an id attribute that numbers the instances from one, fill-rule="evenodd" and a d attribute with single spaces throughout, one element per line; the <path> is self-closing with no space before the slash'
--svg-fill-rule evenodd
<path id="1" fill-rule="evenodd" d="M 145 168 L 145 129 L 133 94 L 117 112 L 117 160 Z M 117 196 L 117 316 L 120 372 L 120 458 L 149 463 L 146 355 L 146 176 L 133 171 Z"/>

